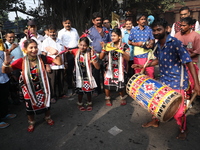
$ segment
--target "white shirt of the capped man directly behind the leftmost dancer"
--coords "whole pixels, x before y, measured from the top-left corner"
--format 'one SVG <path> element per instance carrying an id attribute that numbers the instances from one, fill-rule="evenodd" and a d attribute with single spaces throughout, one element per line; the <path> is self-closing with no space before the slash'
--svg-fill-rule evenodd
<path id="1" fill-rule="evenodd" d="M 21 47 L 21 49 L 23 50 L 23 43 L 24 43 L 24 41 L 26 40 L 27 38 L 26 38 L 26 36 L 24 37 L 24 38 L 22 38 L 21 40 L 20 40 L 20 42 L 19 42 L 19 45 L 20 45 L 20 47 Z M 42 50 L 42 42 L 44 41 L 44 37 L 42 36 L 42 35 L 40 35 L 40 34 L 38 34 L 37 33 L 37 37 L 31 37 L 31 39 L 33 39 L 33 40 L 35 40 L 36 42 L 37 42 L 37 44 L 38 44 L 38 55 L 39 54 L 41 54 L 41 50 Z"/>

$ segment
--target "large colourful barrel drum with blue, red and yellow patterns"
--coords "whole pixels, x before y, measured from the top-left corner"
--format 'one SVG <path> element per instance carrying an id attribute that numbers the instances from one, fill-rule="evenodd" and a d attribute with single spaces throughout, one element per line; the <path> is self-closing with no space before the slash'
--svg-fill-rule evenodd
<path id="1" fill-rule="evenodd" d="M 181 94 L 141 73 L 130 78 L 126 92 L 161 122 L 171 119 L 182 101 Z"/>

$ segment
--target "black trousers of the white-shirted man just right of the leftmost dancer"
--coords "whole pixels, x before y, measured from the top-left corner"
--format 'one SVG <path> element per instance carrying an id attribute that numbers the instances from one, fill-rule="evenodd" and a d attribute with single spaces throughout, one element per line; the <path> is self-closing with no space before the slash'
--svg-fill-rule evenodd
<path id="1" fill-rule="evenodd" d="M 64 95 L 64 69 L 51 70 L 48 73 L 51 88 L 51 98 L 57 98 Z"/>

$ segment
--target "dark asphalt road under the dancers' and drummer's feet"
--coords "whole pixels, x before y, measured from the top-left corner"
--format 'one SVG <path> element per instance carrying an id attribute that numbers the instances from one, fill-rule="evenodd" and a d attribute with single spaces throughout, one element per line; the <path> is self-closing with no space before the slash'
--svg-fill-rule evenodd
<path id="1" fill-rule="evenodd" d="M 200 144 L 200 103 L 190 109 L 187 117 L 189 134 L 187 140 L 176 139 L 178 126 L 172 119 L 161 123 L 158 128 L 142 128 L 151 115 L 132 98 L 120 106 L 118 95 L 113 92 L 113 106 L 104 104 L 104 94 L 93 98 L 93 111 L 80 112 L 74 100 L 60 99 L 52 105 L 54 126 L 36 116 L 36 127 L 28 133 L 24 104 L 11 106 L 17 118 L 7 120 L 11 125 L 0 130 L 1 150 L 199 150 Z M 84 98 L 86 100 L 86 97 Z M 113 127 L 120 133 L 108 132 Z"/>

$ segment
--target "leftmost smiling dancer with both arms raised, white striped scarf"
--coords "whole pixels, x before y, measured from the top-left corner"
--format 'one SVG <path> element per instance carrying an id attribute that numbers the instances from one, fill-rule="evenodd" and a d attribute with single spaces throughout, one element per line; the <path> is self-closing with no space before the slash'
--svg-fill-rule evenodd
<path id="1" fill-rule="evenodd" d="M 35 114 L 45 113 L 44 119 L 46 122 L 49 125 L 54 124 L 50 117 L 50 87 L 44 64 L 55 63 L 61 65 L 61 58 L 59 55 L 55 59 L 38 55 L 37 42 L 32 39 L 24 41 L 24 51 L 26 53 L 25 57 L 10 64 L 13 57 L 10 57 L 10 51 L 7 50 L 2 72 L 9 73 L 14 69 L 21 70 L 19 83 L 26 104 L 29 123 L 28 132 L 33 132 Z"/>

